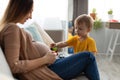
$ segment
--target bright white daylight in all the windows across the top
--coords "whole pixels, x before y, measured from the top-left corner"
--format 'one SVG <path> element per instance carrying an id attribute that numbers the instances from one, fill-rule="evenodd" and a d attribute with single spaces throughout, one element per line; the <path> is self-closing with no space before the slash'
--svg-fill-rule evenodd
<path id="1" fill-rule="evenodd" d="M 0 18 L 9 0 L 0 0 Z M 47 17 L 59 17 L 66 20 L 68 16 L 69 0 L 34 0 L 33 19 L 45 19 Z M 98 18 L 108 20 L 107 11 L 113 10 L 113 18 L 120 21 L 120 8 L 118 0 L 88 0 L 88 12 L 96 8 Z"/>

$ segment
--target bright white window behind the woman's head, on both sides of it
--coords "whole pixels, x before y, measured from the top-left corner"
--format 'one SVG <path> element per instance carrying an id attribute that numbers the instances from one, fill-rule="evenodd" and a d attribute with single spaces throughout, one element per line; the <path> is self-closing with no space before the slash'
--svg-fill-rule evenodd
<path id="1" fill-rule="evenodd" d="M 0 0 L 0 18 L 9 0 Z M 67 19 L 68 0 L 34 0 L 33 18 L 59 17 Z"/>

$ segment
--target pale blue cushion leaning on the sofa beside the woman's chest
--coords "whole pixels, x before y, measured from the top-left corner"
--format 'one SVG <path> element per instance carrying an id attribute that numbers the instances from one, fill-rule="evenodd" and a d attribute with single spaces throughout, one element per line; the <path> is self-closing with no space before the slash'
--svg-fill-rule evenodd
<path id="1" fill-rule="evenodd" d="M 31 33 L 31 35 L 35 41 L 44 42 L 38 29 L 36 28 L 36 26 L 34 24 L 31 24 L 28 27 L 25 27 L 25 30 L 27 30 L 28 32 Z"/>

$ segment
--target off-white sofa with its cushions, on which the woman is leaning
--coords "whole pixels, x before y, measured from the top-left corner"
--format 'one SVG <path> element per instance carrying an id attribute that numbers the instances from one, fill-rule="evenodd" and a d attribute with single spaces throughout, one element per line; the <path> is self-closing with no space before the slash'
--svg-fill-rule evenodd
<path id="1" fill-rule="evenodd" d="M 32 22 L 31 24 L 24 26 L 24 28 L 31 34 L 34 40 L 43 42 L 46 45 L 54 43 L 53 39 L 48 35 L 48 33 L 45 30 L 43 30 L 43 28 L 41 28 L 40 25 L 36 22 Z M 1 50 L 1 47 L 0 47 L 0 80 L 17 80 L 13 77 L 11 73 L 11 70 L 6 61 L 4 53 Z M 82 76 L 72 80 L 88 80 L 88 79 Z"/>

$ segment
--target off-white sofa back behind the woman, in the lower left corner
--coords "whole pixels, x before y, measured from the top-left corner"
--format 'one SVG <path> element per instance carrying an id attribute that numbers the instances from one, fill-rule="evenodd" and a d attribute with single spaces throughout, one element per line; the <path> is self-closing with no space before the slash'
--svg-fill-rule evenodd
<path id="1" fill-rule="evenodd" d="M 0 47 L 0 80 L 8 80 L 7 78 L 4 79 L 3 75 L 9 77 L 9 80 L 14 80 L 9 65 Z"/>

